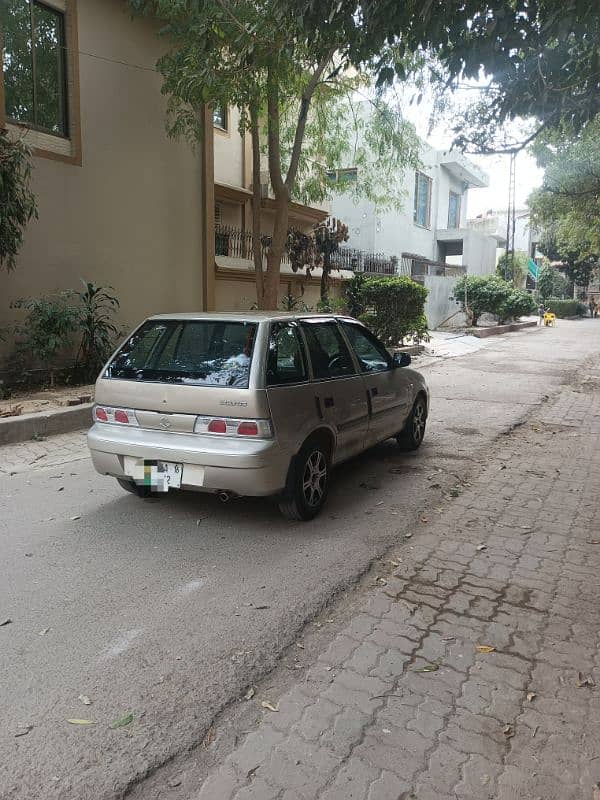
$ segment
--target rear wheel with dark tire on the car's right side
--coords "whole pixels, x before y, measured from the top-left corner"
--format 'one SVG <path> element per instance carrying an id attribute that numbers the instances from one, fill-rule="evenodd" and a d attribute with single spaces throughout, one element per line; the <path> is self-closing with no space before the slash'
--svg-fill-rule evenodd
<path id="1" fill-rule="evenodd" d="M 330 453 L 323 439 L 306 442 L 290 465 L 279 510 L 284 517 L 306 522 L 317 516 L 327 501 Z"/>

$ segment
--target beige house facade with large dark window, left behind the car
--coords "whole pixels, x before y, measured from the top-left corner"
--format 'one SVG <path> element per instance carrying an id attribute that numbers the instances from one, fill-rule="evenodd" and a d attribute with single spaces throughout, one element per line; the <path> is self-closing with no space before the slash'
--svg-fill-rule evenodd
<path id="1" fill-rule="evenodd" d="M 2 33 L 0 126 L 32 148 L 39 218 L 17 268 L 0 272 L 0 328 L 22 319 L 14 300 L 78 289 L 80 278 L 114 287 L 125 327 L 159 312 L 249 309 L 251 152 L 239 112 L 203 108 L 195 149 L 169 138 L 155 67 L 166 42 L 123 0 L 19 0 Z M 326 216 L 290 211 L 303 229 Z M 317 302 L 318 276 L 282 273 L 282 297 Z"/>

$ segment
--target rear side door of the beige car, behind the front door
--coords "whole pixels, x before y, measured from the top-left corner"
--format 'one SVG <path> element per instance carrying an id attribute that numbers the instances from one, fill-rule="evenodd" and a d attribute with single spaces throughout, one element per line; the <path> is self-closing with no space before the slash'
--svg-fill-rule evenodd
<path id="1" fill-rule="evenodd" d="M 369 424 L 367 396 L 348 345 L 333 319 L 305 319 L 312 369 L 313 402 L 320 419 L 335 431 L 335 460 L 361 452 Z"/>

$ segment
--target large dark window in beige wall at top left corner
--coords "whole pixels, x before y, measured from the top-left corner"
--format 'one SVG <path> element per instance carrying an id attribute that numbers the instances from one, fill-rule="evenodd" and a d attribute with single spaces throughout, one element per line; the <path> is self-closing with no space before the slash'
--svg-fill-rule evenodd
<path id="1" fill-rule="evenodd" d="M 9 0 L 2 54 L 7 118 L 69 135 L 65 15 L 37 0 Z"/>

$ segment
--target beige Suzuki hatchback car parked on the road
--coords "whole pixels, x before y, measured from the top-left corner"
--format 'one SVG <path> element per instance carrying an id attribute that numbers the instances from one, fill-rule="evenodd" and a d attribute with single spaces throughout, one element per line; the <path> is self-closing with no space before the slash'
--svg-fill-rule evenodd
<path id="1" fill-rule="evenodd" d="M 92 461 L 141 496 L 278 495 L 312 519 L 333 465 L 390 437 L 420 446 L 429 392 L 409 363 L 344 316 L 151 317 L 98 378 Z"/>

